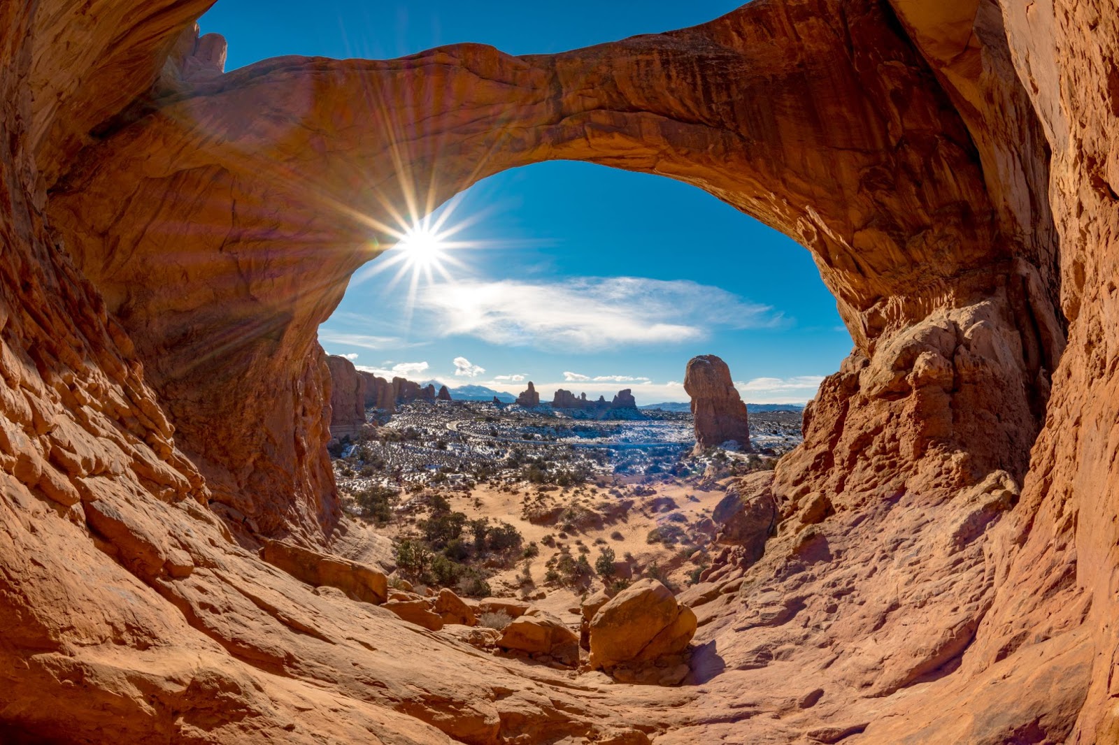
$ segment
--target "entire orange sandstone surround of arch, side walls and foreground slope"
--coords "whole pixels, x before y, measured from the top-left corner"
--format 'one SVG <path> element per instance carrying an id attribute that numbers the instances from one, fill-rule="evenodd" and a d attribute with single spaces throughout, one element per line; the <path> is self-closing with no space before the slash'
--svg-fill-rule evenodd
<path id="1" fill-rule="evenodd" d="M 754 0 L 552 56 L 228 74 L 208 4 L 0 4 L 4 735 L 1119 738 L 1111 3 Z M 855 339 L 751 482 L 764 555 L 685 593 L 679 689 L 480 654 L 256 555 L 375 560 L 316 329 L 399 223 L 547 159 L 794 237 Z"/>

